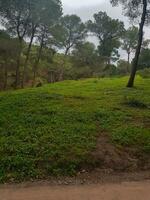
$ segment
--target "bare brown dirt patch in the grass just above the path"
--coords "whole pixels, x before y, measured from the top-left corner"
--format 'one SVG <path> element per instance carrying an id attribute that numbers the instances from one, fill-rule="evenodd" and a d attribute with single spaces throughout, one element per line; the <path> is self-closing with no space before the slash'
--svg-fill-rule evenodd
<path id="1" fill-rule="evenodd" d="M 141 152 L 139 148 L 116 147 L 107 133 L 100 134 L 96 149 L 90 156 L 93 165 L 91 169 L 99 168 L 119 172 L 150 169 L 149 155 Z M 88 168 L 90 169 L 90 166 Z"/>

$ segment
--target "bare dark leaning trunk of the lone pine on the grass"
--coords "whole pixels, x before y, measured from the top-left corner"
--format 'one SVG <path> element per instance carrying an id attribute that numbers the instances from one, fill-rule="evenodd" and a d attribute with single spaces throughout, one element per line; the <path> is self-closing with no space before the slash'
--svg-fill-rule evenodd
<path id="1" fill-rule="evenodd" d="M 139 61 L 141 46 L 142 46 L 142 42 L 143 42 L 143 28 L 144 28 L 144 24 L 145 24 L 145 20 L 146 20 L 146 14 L 147 14 L 147 0 L 143 0 L 143 13 L 142 13 L 141 23 L 140 23 L 140 27 L 139 27 L 138 45 L 137 45 L 135 57 L 133 60 L 130 79 L 127 84 L 127 87 L 129 87 L 129 88 L 134 86 L 135 75 L 136 75 L 136 71 L 137 71 L 137 67 L 138 67 L 138 61 Z"/>

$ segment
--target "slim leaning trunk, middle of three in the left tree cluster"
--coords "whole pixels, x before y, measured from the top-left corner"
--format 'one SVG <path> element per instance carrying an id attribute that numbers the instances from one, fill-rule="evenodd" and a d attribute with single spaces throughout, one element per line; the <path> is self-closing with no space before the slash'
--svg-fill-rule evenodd
<path id="1" fill-rule="evenodd" d="M 24 84 L 25 84 L 25 82 L 26 82 L 26 77 L 27 77 L 27 65 L 28 65 L 28 61 L 29 61 L 29 56 L 30 56 L 30 52 L 31 52 L 31 47 L 32 47 L 32 43 L 33 43 L 35 31 L 36 31 L 36 27 L 34 27 L 34 29 L 33 29 L 33 31 L 32 31 L 30 43 L 29 43 L 28 50 L 27 50 L 27 56 L 26 56 L 25 63 L 24 63 L 23 75 L 22 75 L 22 88 L 24 88 Z"/>

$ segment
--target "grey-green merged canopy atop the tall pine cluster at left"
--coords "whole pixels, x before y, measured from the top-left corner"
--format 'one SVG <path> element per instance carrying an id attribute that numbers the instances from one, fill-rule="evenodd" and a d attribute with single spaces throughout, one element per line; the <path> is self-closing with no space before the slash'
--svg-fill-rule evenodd
<path id="1" fill-rule="evenodd" d="M 52 24 L 62 14 L 59 0 L 0 0 L 0 5 L 3 25 L 18 39 L 29 34 L 31 25 Z"/>

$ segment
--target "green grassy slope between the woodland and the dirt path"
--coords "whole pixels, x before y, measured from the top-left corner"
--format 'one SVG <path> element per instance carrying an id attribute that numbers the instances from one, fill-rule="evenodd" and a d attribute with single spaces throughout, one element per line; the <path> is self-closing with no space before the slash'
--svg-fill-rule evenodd
<path id="1" fill-rule="evenodd" d="M 126 82 L 64 81 L 1 93 L 0 181 L 74 174 L 103 130 L 117 145 L 150 153 L 150 109 L 141 106 L 150 106 L 150 79 L 137 77 L 134 89 Z"/>

